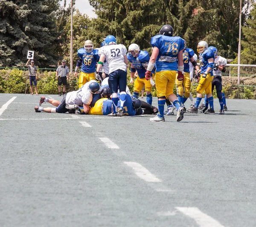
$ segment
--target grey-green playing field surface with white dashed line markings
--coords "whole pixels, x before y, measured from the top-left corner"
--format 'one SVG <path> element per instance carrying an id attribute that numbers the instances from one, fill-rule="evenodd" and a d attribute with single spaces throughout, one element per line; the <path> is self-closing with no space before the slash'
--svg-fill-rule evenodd
<path id="1" fill-rule="evenodd" d="M 39 99 L 0 94 L 1 227 L 256 226 L 256 100 L 149 122 Z"/>

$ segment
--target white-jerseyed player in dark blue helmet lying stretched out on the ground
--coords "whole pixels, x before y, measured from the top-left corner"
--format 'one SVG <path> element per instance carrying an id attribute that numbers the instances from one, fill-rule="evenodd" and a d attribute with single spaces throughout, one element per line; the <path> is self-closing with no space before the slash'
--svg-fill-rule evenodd
<path id="1" fill-rule="evenodd" d="M 48 113 L 66 113 L 71 109 L 78 108 L 79 105 L 83 104 L 84 112 L 88 113 L 90 110 L 90 103 L 93 99 L 93 94 L 99 93 L 100 86 L 95 80 L 90 80 L 85 83 L 79 90 L 68 92 L 63 96 L 61 102 L 55 99 L 49 99 L 44 96 L 40 98 L 39 105 L 43 102 L 49 102 L 57 108 L 43 108 L 35 106 L 35 112 L 48 112 Z"/>

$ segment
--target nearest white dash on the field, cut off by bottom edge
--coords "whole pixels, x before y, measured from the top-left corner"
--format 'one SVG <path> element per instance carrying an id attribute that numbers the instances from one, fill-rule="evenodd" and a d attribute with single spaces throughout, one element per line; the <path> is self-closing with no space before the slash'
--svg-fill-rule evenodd
<path id="1" fill-rule="evenodd" d="M 201 212 L 197 207 L 175 207 L 181 213 L 193 218 L 200 227 L 224 227 L 211 216 Z"/>

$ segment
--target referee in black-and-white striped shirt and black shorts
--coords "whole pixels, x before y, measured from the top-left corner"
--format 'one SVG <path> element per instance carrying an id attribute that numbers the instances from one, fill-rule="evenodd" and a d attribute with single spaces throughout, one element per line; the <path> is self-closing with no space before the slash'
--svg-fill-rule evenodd
<path id="1" fill-rule="evenodd" d="M 66 65 L 66 61 L 63 59 L 61 65 L 59 65 L 56 70 L 56 79 L 58 78 L 59 96 L 61 96 L 61 84 L 63 85 L 62 95 L 64 96 L 65 94 L 68 77 L 69 68 Z"/>

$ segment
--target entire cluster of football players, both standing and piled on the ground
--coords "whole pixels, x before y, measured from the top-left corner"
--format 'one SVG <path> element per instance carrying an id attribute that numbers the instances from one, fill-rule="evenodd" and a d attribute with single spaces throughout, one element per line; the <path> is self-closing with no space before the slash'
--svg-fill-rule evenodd
<path id="1" fill-rule="evenodd" d="M 36 112 L 98 114 L 108 116 L 134 116 L 135 114 L 155 114 L 150 121 L 165 121 L 164 114 L 174 114 L 177 110 L 177 121 L 183 119 L 185 112 L 214 114 L 212 91 L 214 86 L 220 102 L 219 114 L 224 114 L 227 107 L 222 93 L 221 72 L 225 71 L 227 60 L 218 56 L 215 47 L 209 47 L 205 41 L 198 43 L 197 51 L 201 68 L 197 65 L 195 52 L 186 47 L 181 37 L 173 37 L 172 26 L 165 25 L 160 34 L 151 38 L 152 54 L 140 50 L 133 43 L 127 49 L 116 44 L 112 35 L 106 37 L 102 47 L 93 49 L 90 40 L 85 41 L 84 48 L 78 50 L 79 60 L 75 75 L 81 66 L 79 90 L 65 94 L 61 102 L 41 97 L 39 105 L 49 102 L 57 108 L 35 107 Z M 133 95 L 127 87 L 127 68 L 131 62 L 131 80 L 134 83 Z M 188 98 L 193 102 L 190 86 L 195 67 L 195 81 L 198 82 L 196 102 L 186 110 L 184 103 Z M 134 76 L 137 74 L 137 78 Z M 155 82 L 154 82 L 154 79 Z M 96 80 L 101 84 L 99 85 Z M 135 79 L 135 81 L 134 81 Z M 173 93 L 176 84 L 177 96 Z M 145 86 L 146 101 L 139 93 Z M 158 109 L 152 106 L 151 88 L 157 90 Z M 205 102 L 200 106 L 202 94 Z M 167 111 L 164 112 L 165 104 Z M 208 109 L 209 107 L 209 109 Z"/>

